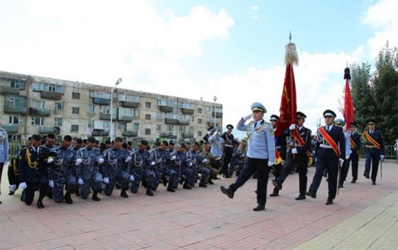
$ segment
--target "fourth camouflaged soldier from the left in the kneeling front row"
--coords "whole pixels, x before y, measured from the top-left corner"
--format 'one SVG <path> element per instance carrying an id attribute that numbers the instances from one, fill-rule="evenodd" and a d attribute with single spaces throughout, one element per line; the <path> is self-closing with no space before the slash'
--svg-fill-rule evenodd
<path id="1" fill-rule="evenodd" d="M 156 164 L 147 150 L 148 142 L 141 140 L 139 149 L 131 154 L 131 160 L 128 162 L 128 173 L 134 176 L 134 181 L 130 184 L 130 190 L 134 194 L 138 192 L 139 184 L 144 179 L 146 183 L 146 194 L 153 196 L 152 188 L 156 186 L 155 174 L 152 171 L 153 166 Z"/>

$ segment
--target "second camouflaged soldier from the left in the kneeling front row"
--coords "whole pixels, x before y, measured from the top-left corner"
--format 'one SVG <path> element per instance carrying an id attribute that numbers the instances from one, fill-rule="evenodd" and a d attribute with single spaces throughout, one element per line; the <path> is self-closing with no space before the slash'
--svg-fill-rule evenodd
<path id="1" fill-rule="evenodd" d="M 80 185 L 80 196 L 82 199 L 89 198 L 90 188 L 93 188 L 93 200 L 100 201 L 98 191 L 102 187 L 102 175 L 98 165 L 104 163 L 100 149 L 94 147 L 95 138 L 87 138 L 86 147 L 80 149 L 76 154 L 76 177 Z"/>

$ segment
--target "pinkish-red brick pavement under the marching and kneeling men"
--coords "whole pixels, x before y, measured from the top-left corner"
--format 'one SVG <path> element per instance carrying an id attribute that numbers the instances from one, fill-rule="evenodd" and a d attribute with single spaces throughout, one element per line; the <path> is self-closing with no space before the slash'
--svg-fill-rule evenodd
<path id="1" fill-rule="evenodd" d="M 292 249 L 397 190 L 397 164 L 386 162 L 383 170 L 377 186 L 362 175 L 350 184 L 349 177 L 329 206 L 325 179 L 318 199 L 296 201 L 298 175 L 290 175 L 281 196 L 268 197 L 261 212 L 252 210 L 255 179 L 237 190 L 234 199 L 220 192 L 220 185 L 233 178 L 206 189 L 178 188 L 173 194 L 160 186 L 154 197 L 140 189 L 128 199 L 119 197 L 119 190 L 112 197 L 101 195 L 100 202 L 73 197 L 72 205 L 45 199 L 45 209 L 38 210 L 19 201 L 20 190 L 7 195 L 3 174 L 0 249 Z M 314 168 L 308 175 L 310 184 Z M 269 182 L 268 193 L 272 188 Z"/>

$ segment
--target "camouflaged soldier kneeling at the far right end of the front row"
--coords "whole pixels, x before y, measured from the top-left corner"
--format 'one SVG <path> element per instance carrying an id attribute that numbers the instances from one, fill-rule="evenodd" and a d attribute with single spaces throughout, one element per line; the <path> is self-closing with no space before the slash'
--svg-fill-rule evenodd
<path id="1" fill-rule="evenodd" d="M 192 145 L 191 150 L 187 153 L 187 158 L 192 162 L 192 171 L 194 172 L 194 178 L 189 180 L 189 186 L 195 186 L 196 180 L 198 179 L 198 173 L 202 176 L 200 177 L 199 186 L 202 188 L 207 188 L 206 182 L 209 179 L 210 171 L 209 168 L 204 168 L 203 163 L 207 163 L 208 160 L 200 155 L 199 143 L 195 142 Z"/>

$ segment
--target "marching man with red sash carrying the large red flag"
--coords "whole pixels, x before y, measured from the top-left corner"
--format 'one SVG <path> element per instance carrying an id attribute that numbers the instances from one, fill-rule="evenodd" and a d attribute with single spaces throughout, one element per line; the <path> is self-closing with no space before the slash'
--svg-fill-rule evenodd
<path id="1" fill-rule="evenodd" d="M 304 127 L 307 116 L 303 112 L 296 112 L 296 124 L 290 125 L 282 134 L 282 153 L 281 157 L 285 160 L 285 166 L 281 175 L 272 184 L 278 190 L 282 189 L 282 184 L 286 177 L 290 175 L 294 165 L 299 172 L 299 197 L 296 200 L 305 199 L 307 189 L 307 167 L 309 161 L 309 148 L 311 147 L 311 130 Z M 287 145 L 288 142 L 288 145 Z"/>

